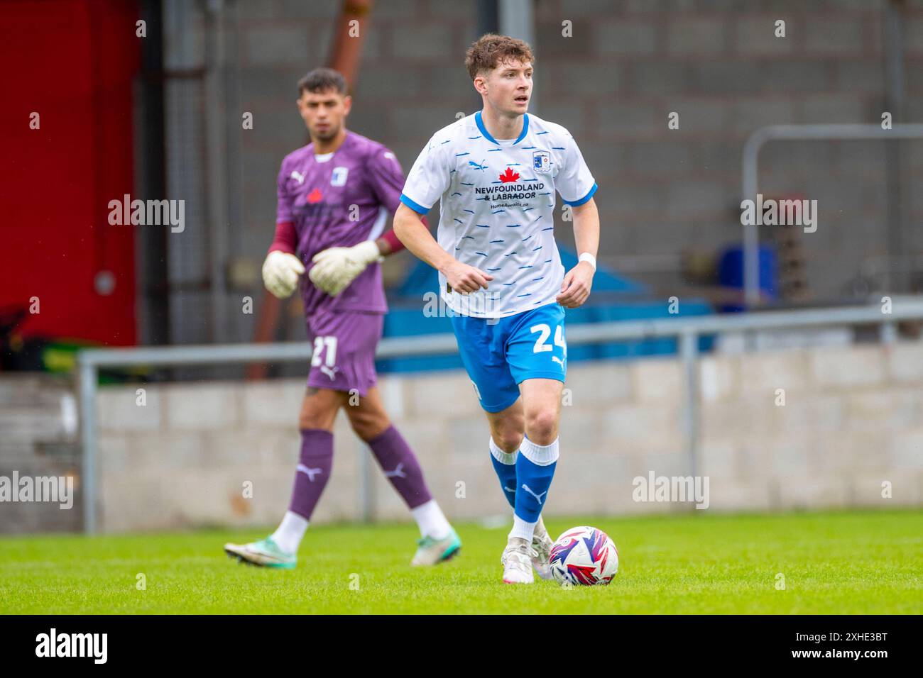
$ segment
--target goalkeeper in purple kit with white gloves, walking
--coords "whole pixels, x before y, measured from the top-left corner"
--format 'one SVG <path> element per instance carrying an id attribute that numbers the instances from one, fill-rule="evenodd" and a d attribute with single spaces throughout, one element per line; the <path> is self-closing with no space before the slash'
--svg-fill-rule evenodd
<path id="1" fill-rule="evenodd" d="M 224 550 L 254 565 L 294 567 L 330 478 L 333 422 L 343 408 L 420 528 L 412 565 L 436 565 L 458 553 L 461 541 L 376 386 L 375 351 L 388 312 L 378 262 L 402 248 L 392 231 L 385 232 L 401 202 L 401 165 L 386 147 L 346 129 L 352 99 L 341 74 L 317 68 L 298 83 L 298 93 L 311 143 L 282 161 L 276 233 L 263 280 L 280 299 L 300 285 L 314 342 L 298 419 L 301 453 L 279 528 L 266 539 L 228 543 Z"/>

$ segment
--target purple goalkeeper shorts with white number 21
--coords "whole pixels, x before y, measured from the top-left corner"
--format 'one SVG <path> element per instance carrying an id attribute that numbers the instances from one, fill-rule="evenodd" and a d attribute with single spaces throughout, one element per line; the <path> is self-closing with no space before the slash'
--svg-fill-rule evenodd
<path id="1" fill-rule="evenodd" d="M 314 356 L 307 385 L 334 391 L 355 389 L 365 398 L 375 386 L 375 350 L 383 326 L 380 313 L 318 311 L 308 317 Z"/>

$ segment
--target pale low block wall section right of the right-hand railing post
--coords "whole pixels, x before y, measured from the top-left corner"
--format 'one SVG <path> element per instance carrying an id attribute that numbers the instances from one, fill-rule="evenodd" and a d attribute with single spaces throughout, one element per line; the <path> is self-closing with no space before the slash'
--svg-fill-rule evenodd
<path id="1" fill-rule="evenodd" d="M 712 477 L 713 506 L 753 501 L 720 492 L 723 479 L 751 484 L 767 507 L 923 501 L 920 358 L 913 343 L 703 361 L 702 373 L 725 373 L 725 387 L 702 397 L 701 472 Z M 892 499 L 882 499 L 883 482 Z"/>

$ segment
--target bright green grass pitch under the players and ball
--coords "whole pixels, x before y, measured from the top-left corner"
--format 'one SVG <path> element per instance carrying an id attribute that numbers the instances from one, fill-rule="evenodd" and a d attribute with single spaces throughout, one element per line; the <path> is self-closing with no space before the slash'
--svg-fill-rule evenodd
<path id="1" fill-rule="evenodd" d="M 289 571 L 222 552 L 263 530 L 5 537 L 0 613 L 923 613 L 919 510 L 697 513 L 547 520 L 616 542 L 612 584 L 573 589 L 502 584 L 508 530 L 478 524 L 426 570 L 408 565 L 411 524 L 311 528 Z"/>

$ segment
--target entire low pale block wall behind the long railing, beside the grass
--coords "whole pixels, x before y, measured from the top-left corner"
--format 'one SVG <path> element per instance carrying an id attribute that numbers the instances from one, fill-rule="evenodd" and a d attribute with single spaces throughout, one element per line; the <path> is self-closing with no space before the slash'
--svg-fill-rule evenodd
<path id="1" fill-rule="evenodd" d="M 698 468 L 708 510 L 923 505 L 919 364 L 919 343 L 703 357 Z M 450 517 L 509 513 L 466 375 L 388 376 L 380 388 Z M 577 363 L 566 388 L 549 514 L 691 510 L 632 497 L 638 476 L 689 474 L 677 359 Z M 141 407 L 136 387 L 102 387 L 102 529 L 275 523 L 294 478 L 303 392 L 301 379 L 150 385 Z M 334 441 L 318 523 L 361 516 L 367 449 L 342 414 Z M 369 460 L 376 517 L 406 519 Z"/>

